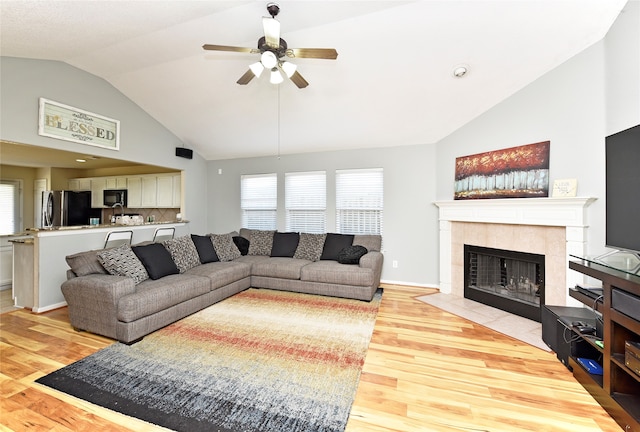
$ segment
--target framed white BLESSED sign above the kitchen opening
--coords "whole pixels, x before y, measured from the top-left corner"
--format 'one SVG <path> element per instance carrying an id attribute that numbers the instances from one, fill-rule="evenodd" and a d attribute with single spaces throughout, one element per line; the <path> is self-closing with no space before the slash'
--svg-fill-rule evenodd
<path id="1" fill-rule="evenodd" d="M 40 98 L 38 135 L 120 149 L 120 121 Z"/>

